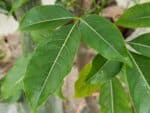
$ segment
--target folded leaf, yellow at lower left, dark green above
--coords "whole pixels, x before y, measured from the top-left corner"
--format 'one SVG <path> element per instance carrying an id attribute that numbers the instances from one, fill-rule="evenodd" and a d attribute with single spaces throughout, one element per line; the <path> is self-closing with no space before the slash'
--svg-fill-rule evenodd
<path id="1" fill-rule="evenodd" d="M 99 90 L 101 84 L 111 80 L 121 70 L 122 63 L 109 61 L 100 54 L 80 72 L 75 84 L 75 97 L 85 97 Z"/>

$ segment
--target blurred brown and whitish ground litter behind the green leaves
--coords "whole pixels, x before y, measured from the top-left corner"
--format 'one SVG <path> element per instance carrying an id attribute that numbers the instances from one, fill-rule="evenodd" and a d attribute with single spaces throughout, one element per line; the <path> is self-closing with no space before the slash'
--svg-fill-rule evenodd
<path id="1" fill-rule="evenodd" d="M 3 6 L 2 1 L 0 0 L 1 6 Z M 11 0 L 7 1 L 10 2 Z M 0 79 L 11 69 L 19 56 L 29 53 L 34 48 L 34 40 L 28 34 L 21 33 L 18 30 L 20 17 L 29 8 L 40 3 L 43 5 L 59 4 L 65 6 L 77 16 L 96 13 L 114 22 L 126 8 L 144 2 L 150 2 L 150 0 L 30 0 L 28 4 L 17 9 L 15 16 L 8 16 L 7 11 L 0 9 Z M 11 3 L 13 3 L 13 0 Z M 120 27 L 119 29 L 127 40 L 139 34 L 150 32 L 150 29 L 147 28 L 134 31 Z M 77 60 L 63 86 L 63 94 L 67 97 L 66 100 L 50 97 L 39 113 L 100 113 L 100 107 L 98 106 L 99 92 L 86 98 L 74 98 L 74 82 L 78 78 L 79 71 L 94 55 L 95 52 L 84 43 L 80 45 Z M 0 113 L 29 113 L 29 107 L 24 101 L 24 96 L 22 96 L 17 102 L 1 102 Z"/>

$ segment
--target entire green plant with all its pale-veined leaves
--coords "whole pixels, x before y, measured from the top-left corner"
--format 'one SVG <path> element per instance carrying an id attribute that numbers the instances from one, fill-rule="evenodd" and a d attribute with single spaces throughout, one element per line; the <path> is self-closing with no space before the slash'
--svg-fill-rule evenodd
<path id="1" fill-rule="evenodd" d="M 150 27 L 150 3 L 129 8 L 115 24 Z M 23 68 L 21 76 L 6 76 L 3 96 L 9 99 L 16 95 L 8 87 L 14 92 L 23 89 L 36 112 L 50 95 L 60 95 L 83 40 L 97 55 L 81 70 L 75 96 L 85 97 L 100 90 L 101 113 L 132 113 L 131 103 L 136 113 L 150 113 L 150 33 L 126 41 L 115 24 L 99 15 L 76 17 L 58 5 L 29 10 L 20 22 L 20 30 L 30 32 L 37 46 L 31 57 L 12 69 L 16 73 Z M 15 85 L 10 86 L 10 81 Z M 122 81 L 127 82 L 127 88 Z"/>

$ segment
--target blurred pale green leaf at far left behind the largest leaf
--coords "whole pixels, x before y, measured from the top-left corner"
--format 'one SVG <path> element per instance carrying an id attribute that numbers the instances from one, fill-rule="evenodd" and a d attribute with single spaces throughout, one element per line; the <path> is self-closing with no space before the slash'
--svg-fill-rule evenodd
<path id="1" fill-rule="evenodd" d="M 29 57 L 19 58 L 13 68 L 5 75 L 1 87 L 1 95 L 4 100 L 17 101 L 19 99 L 28 61 Z"/>

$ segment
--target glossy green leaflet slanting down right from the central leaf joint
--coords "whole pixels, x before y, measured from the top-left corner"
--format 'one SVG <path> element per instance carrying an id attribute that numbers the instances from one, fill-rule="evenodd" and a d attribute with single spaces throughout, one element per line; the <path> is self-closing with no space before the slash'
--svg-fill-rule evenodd
<path id="1" fill-rule="evenodd" d="M 127 50 L 119 30 L 103 17 L 90 15 L 81 19 L 83 40 L 109 60 L 129 64 Z"/>

